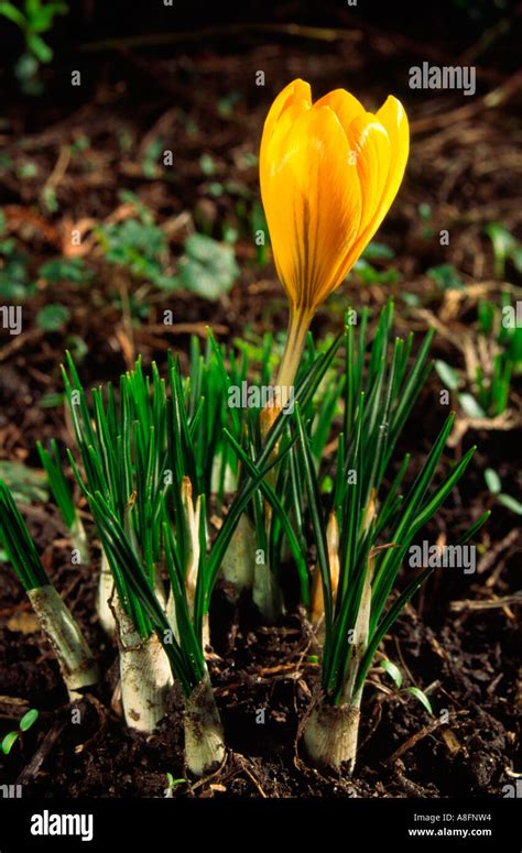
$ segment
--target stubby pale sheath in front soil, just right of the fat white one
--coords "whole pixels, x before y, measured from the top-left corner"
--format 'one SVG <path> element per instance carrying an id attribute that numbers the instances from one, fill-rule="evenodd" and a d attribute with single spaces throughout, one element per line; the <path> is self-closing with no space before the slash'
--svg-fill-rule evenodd
<path id="1" fill-rule="evenodd" d="M 215 770 L 225 758 L 225 737 L 208 675 L 185 700 L 185 761 L 194 776 Z"/>

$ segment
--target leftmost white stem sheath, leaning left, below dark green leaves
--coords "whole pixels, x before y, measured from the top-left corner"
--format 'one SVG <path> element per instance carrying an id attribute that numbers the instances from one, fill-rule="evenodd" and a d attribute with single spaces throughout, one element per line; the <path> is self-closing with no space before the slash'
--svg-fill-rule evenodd
<path id="1" fill-rule="evenodd" d="M 70 700 L 77 692 L 98 681 L 98 667 L 81 631 L 69 609 L 51 584 L 29 590 L 29 600 L 36 613 L 62 670 Z"/>

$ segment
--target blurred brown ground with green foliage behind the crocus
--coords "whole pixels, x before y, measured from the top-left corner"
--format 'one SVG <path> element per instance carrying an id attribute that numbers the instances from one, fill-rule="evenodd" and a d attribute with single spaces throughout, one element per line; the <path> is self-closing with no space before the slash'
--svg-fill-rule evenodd
<path id="1" fill-rule="evenodd" d="M 185 0 L 0 2 L 0 300 L 24 311 L 20 341 L 0 329 L 3 360 L 50 365 L 52 386 L 30 392 L 48 408 L 65 347 L 95 374 L 118 371 L 173 343 L 183 358 L 209 322 L 230 340 L 273 329 L 276 353 L 285 298 L 259 140 L 273 96 L 302 76 L 317 96 L 342 86 L 369 109 L 392 91 L 412 124 L 400 195 L 314 329 L 392 295 L 399 325 L 436 327 L 460 429 L 515 428 L 521 329 L 502 311 L 521 298 L 519 25 L 508 0 L 422 15 L 306 0 L 203 15 Z M 475 96 L 410 89 L 423 62 L 474 65 Z"/>

